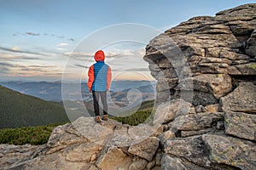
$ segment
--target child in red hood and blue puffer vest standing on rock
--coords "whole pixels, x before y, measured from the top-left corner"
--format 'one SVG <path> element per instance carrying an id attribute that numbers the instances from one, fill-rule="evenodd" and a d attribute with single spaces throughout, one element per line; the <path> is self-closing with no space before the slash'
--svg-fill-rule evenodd
<path id="1" fill-rule="evenodd" d="M 96 52 L 94 59 L 96 60 L 96 63 L 89 68 L 87 86 L 90 92 L 92 92 L 96 122 L 101 122 L 99 110 L 100 97 L 103 105 L 102 120 L 108 121 L 107 91 L 111 84 L 111 68 L 105 64 L 105 54 L 102 50 Z"/>

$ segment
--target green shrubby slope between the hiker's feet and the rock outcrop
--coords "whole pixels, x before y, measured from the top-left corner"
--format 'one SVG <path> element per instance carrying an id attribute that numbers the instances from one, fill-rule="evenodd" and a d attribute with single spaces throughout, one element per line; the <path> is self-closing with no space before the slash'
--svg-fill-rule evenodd
<path id="1" fill-rule="evenodd" d="M 140 106 L 139 110 L 131 116 L 111 116 L 110 118 L 123 124 L 136 126 L 143 122 L 150 122 L 151 112 L 153 111 L 154 101 L 145 101 Z M 129 114 L 129 113 L 128 113 Z"/>

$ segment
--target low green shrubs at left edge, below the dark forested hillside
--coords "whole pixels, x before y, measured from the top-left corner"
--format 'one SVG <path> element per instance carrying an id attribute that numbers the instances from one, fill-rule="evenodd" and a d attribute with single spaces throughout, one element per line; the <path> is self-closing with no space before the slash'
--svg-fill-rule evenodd
<path id="1" fill-rule="evenodd" d="M 45 144 L 53 129 L 61 124 L 63 123 L 39 127 L 0 129 L 0 144 Z"/>

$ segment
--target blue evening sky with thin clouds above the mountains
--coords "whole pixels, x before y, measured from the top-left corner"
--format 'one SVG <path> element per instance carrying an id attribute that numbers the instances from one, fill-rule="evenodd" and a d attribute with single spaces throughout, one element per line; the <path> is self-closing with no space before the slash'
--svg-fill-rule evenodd
<path id="1" fill-rule="evenodd" d="M 153 80 L 143 60 L 151 38 L 194 16 L 254 1 L 0 2 L 0 82 L 57 82 L 86 80 L 97 49 L 105 51 L 114 80 Z"/>

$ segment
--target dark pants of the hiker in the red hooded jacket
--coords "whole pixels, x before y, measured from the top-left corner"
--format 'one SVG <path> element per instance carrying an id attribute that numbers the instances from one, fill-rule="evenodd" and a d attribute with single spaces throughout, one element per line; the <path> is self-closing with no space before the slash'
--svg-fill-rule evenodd
<path id="1" fill-rule="evenodd" d="M 96 116 L 100 116 L 99 99 L 101 96 L 103 105 L 103 115 L 108 115 L 107 91 L 97 92 L 92 91 L 94 112 Z"/>

